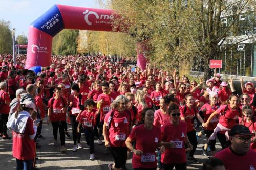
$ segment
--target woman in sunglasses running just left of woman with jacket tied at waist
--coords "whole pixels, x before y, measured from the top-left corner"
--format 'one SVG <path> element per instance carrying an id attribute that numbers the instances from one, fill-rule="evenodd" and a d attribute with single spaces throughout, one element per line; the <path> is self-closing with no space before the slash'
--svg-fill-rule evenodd
<path id="1" fill-rule="evenodd" d="M 207 119 L 209 118 L 209 116 L 219 108 L 217 103 L 218 102 L 217 92 L 212 92 L 209 88 L 207 88 L 207 91 L 210 95 L 210 103 L 204 104 L 200 109 L 200 111 L 203 113 L 203 116 L 204 116 L 204 122 L 207 122 Z M 209 137 L 212 133 L 214 133 L 214 129 L 216 128 L 218 122 L 219 122 L 219 115 L 216 115 L 214 118 L 210 120 L 209 126 L 207 128 L 203 128 L 202 131 L 197 134 L 197 136 L 206 134 L 206 143 L 202 147 L 203 154 L 205 156 L 209 156 L 207 152 L 208 146 L 210 146 L 211 155 L 214 156 L 216 154 L 216 149 L 215 149 L 216 140 L 209 140 Z"/>

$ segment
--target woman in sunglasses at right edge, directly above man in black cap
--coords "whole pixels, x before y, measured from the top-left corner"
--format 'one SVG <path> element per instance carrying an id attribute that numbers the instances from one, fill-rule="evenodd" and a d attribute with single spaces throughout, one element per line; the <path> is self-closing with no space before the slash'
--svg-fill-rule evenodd
<path id="1" fill-rule="evenodd" d="M 244 105 L 242 107 L 242 118 L 239 118 L 239 124 L 244 125 L 249 128 L 249 130 L 252 133 L 251 138 L 251 149 L 256 151 L 256 137 L 255 137 L 255 131 L 256 131 L 256 117 L 253 116 L 252 108 L 249 105 Z"/>

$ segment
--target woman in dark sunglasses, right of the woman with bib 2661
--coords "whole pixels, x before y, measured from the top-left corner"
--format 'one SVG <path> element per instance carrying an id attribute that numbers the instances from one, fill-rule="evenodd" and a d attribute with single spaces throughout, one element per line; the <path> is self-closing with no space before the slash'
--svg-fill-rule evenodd
<path id="1" fill-rule="evenodd" d="M 161 162 L 164 170 L 174 167 L 176 170 L 183 170 L 187 167 L 185 144 L 188 150 L 193 149 L 186 134 L 187 124 L 180 121 L 179 106 L 175 103 L 170 104 L 167 114 L 170 120 L 161 127 L 162 144 L 166 148 L 161 156 Z"/>

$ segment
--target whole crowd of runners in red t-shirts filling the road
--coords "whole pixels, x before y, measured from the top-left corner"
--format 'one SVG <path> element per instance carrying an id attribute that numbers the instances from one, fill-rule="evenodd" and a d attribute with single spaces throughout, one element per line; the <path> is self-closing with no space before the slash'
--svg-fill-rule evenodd
<path id="1" fill-rule="evenodd" d="M 131 152 L 134 169 L 186 169 L 187 161 L 199 163 L 194 154 L 203 135 L 202 154 L 213 156 L 203 169 L 256 168 L 253 82 L 241 78 L 239 94 L 219 73 L 195 81 L 178 70 L 150 63 L 145 70 L 132 68 L 105 55 L 52 56 L 35 75 L 24 69 L 25 60 L 17 56 L 14 66 L 11 55 L 0 55 L 0 135 L 13 140 L 17 169 L 34 166 L 36 141 L 48 138 L 41 135 L 43 122 L 52 125 L 52 142 L 61 152 L 70 137 L 67 123 L 73 152 L 85 147 L 84 133 L 90 160 L 97 155 L 94 139 L 104 140 L 114 159 L 109 169 L 126 169 Z"/>

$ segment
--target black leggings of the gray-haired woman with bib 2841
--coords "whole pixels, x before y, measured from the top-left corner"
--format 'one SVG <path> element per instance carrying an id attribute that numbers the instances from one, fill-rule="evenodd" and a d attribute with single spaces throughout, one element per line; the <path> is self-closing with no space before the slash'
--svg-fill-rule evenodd
<path id="1" fill-rule="evenodd" d="M 110 147 L 110 152 L 114 158 L 115 168 L 121 168 L 125 165 L 127 160 L 126 147 Z"/>

